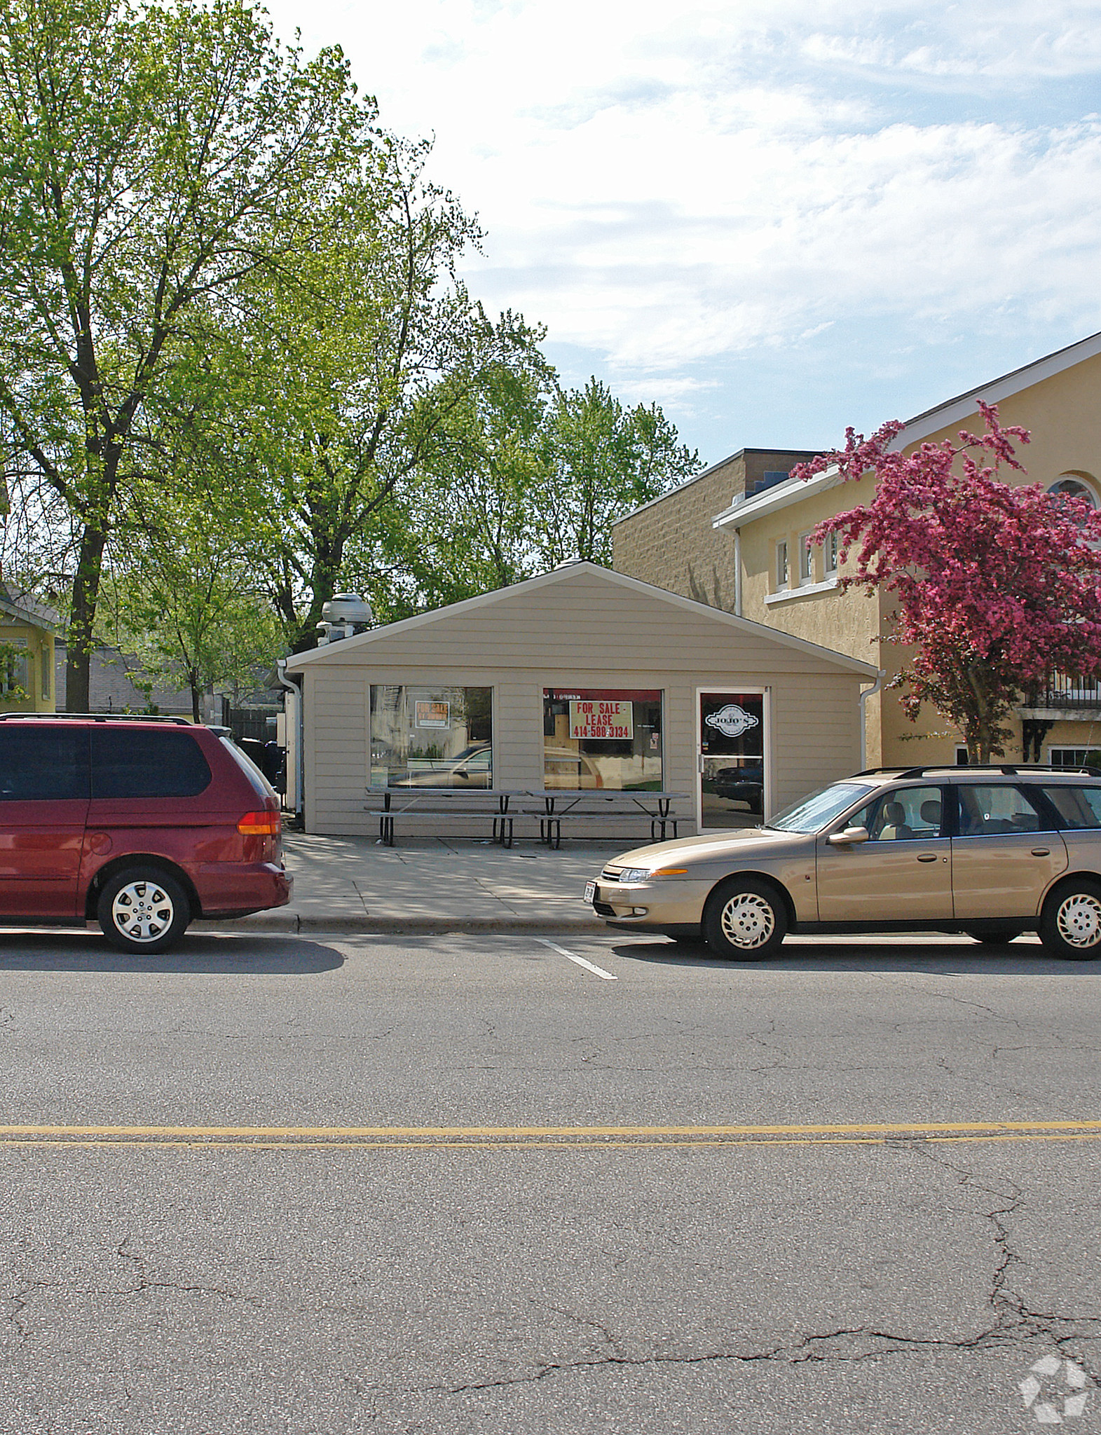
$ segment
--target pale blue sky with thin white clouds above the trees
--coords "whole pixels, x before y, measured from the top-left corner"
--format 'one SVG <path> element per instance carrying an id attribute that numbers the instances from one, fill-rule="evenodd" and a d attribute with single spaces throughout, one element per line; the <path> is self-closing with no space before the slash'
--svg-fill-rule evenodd
<path id="1" fill-rule="evenodd" d="M 1101 0 L 268 0 L 477 212 L 567 386 L 718 462 L 1101 330 Z"/>

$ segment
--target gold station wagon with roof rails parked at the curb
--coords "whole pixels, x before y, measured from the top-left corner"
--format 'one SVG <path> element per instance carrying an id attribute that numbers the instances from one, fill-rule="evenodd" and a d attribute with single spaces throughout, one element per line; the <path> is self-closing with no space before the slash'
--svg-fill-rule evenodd
<path id="1" fill-rule="evenodd" d="M 1038 931 L 1101 956 L 1101 772 L 877 768 L 767 825 L 639 847 L 589 883 L 610 927 L 764 960 L 787 933 Z"/>

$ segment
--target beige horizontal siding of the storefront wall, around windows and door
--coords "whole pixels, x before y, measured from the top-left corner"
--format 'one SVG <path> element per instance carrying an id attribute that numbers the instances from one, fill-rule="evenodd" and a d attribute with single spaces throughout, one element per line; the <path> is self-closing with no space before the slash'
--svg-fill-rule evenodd
<path id="1" fill-rule="evenodd" d="M 871 680 L 835 654 L 591 568 L 345 640 L 307 657 L 301 672 L 307 828 L 363 835 L 378 832 L 365 808 L 382 798 L 367 789 L 372 684 L 492 687 L 494 786 L 524 791 L 543 789 L 545 687 L 660 689 L 662 782 L 685 794 L 683 832 L 695 831 L 699 689 L 771 689 L 772 798 L 785 806 L 858 765 L 857 699 Z M 405 819 L 399 838 L 488 835 L 488 818 L 429 815 Z M 517 822 L 517 835 L 537 831 L 535 818 Z M 649 821 L 601 824 L 599 835 L 649 841 Z"/>

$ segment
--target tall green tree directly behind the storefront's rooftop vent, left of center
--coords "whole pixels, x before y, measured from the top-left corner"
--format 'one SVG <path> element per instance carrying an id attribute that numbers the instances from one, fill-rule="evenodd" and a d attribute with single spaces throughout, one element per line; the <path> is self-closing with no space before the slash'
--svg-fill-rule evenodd
<path id="1" fill-rule="evenodd" d="M 380 145 L 294 276 L 258 276 L 248 347 L 277 353 L 278 383 L 270 366 L 230 380 L 257 380 L 241 484 L 270 515 L 256 563 L 296 650 L 334 591 L 369 585 L 365 535 L 400 521 L 403 489 L 487 375 L 528 363 L 541 337 L 514 314 L 488 319 L 458 280 L 478 228 L 425 179 L 426 156 L 423 144 Z"/>

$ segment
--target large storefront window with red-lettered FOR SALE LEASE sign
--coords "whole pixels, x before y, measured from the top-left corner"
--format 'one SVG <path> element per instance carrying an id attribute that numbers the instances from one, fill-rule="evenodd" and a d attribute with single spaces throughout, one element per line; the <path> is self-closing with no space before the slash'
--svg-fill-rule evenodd
<path id="1" fill-rule="evenodd" d="M 662 788 L 660 689 L 543 689 L 547 788 Z"/>

